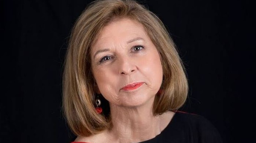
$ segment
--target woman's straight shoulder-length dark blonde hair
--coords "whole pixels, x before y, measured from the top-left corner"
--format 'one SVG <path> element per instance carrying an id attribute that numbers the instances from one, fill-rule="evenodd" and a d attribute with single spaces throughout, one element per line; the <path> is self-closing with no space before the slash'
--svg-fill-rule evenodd
<path id="1" fill-rule="evenodd" d="M 143 25 L 161 57 L 162 92 L 155 96 L 154 114 L 177 110 L 187 98 L 184 67 L 161 20 L 134 0 L 98 0 L 91 3 L 76 21 L 65 59 L 63 109 L 69 127 L 76 135 L 89 136 L 111 128 L 110 115 L 97 114 L 94 107 L 96 91 L 90 50 L 102 28 L 123 17 Z"/>

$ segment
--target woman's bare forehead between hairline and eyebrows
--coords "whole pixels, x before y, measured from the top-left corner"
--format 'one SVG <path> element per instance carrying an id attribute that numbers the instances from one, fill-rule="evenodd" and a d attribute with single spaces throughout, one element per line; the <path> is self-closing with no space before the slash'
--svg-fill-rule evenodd
<path id="1" fill-rule="evenodd" d="M 92 51 L 95 48 L 107 47 L 113 44 L 125 44 L 134 38 L 148 39 L 142 24 L 128 18 L 114 20 L 101 30 L 92 46 Z"/>

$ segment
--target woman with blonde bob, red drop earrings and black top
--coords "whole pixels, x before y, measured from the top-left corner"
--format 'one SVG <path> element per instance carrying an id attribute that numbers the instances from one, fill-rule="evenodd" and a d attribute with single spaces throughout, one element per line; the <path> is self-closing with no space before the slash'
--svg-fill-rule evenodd
<path id="1" fill-rule="evenodd" d="M 176 112 L 188 93 L 182 61 L 158 17 L 132 0 L 95 1 L 82 13 L 63 92 L 75 142 L 221 142 L 206 119 Z"/>

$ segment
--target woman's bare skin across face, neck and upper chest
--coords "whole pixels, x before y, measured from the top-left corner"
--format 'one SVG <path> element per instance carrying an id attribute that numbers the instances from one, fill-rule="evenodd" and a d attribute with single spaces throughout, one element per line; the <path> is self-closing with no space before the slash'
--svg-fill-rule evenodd
<path id="1" fill-rule="evenodd" d="M 143 26 L 128 18 L 106 25 L 91 49 L 91 61 L 98 91 L 109 101 L 113 127 L 75 141 L 135 143 L 160 134 L 174 113 L 153 115 L 163 71 L 159 53 Z M 124 89 L 134 83 L 140 86 Z"/>

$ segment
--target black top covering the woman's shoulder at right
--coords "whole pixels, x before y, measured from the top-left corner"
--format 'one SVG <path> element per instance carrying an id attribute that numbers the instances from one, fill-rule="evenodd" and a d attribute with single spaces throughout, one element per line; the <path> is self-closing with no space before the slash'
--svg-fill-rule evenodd
<path id="1" fill-rule="evenodd" d="M 140 143 L 222 143 L 217 129 L 200 115 L 176 112 L 155 138 Z"/>

